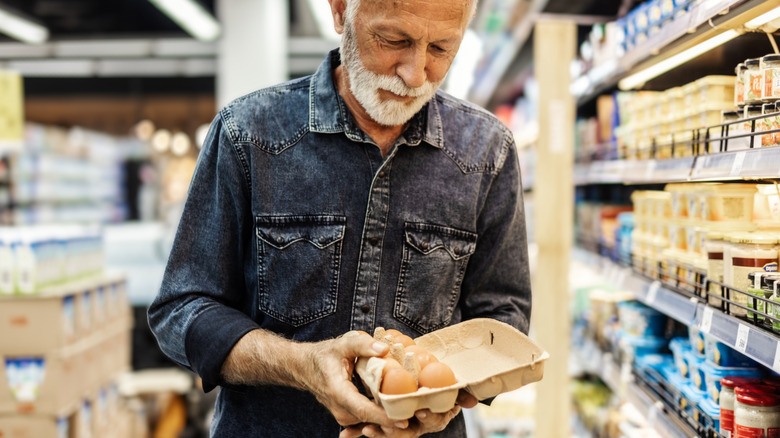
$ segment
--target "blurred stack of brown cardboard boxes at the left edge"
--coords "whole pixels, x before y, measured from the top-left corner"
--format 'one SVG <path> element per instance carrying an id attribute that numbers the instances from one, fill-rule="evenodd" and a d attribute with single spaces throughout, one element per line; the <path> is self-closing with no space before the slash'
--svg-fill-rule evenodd
<path id="1" fill-rule="evenodd" d="M 117 380 L 132 319 L 121 276 L 0 297 L 0 436 L 126 437 Z"/>

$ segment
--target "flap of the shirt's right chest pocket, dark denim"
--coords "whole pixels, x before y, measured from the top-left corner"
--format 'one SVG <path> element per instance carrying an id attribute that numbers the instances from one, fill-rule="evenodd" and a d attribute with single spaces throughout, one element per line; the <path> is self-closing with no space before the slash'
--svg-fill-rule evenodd
<path id="1" fill-rule="evenodd" d="M 469 231 L 411 222 L 405 228 L 406 242 L 423 254 L 444 249 L 454 260 L 459 260 L 473 254 L 477 247 L 477 235 Z"/>

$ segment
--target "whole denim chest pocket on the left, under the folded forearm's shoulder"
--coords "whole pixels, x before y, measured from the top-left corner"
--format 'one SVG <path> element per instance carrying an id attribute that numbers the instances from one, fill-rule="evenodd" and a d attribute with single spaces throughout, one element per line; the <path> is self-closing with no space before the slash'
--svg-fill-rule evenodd
<path id="1" fill-rule="evenodd" d="M 258 216 L 259 307 L 298 327 L 336 311 L 343 216 Z"/>

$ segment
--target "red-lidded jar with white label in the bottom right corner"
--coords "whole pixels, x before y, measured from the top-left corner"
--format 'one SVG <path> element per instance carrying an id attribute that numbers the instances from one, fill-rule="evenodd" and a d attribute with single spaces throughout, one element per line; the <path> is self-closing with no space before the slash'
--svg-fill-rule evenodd
<path id="1" fill-rule="evenodd" d="M 768 385 L 734 388 L 734 438 L 780 436 L 780 394 Z"/>

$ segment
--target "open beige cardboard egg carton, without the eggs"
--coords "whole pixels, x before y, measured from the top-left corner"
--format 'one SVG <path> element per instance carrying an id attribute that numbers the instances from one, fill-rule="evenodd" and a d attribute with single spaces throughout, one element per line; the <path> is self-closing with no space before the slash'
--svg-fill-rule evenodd
<path id="1" fill-rule="evenodd" d="M 385 360 L 361 358 L 355 367 L 374 401 L 387 416 L 402 420 L 420 409 L 446 412 L 465 389 L 479 400 L 515 390 L 542 379 L 549 354 L 514 327 L 487 318 L 472 319 L 414 340 L 452 368 L 457 383 L 444 388 L 420 388 L 412 394 L 379 392 Z"/>

